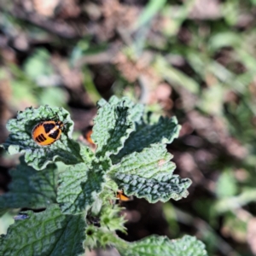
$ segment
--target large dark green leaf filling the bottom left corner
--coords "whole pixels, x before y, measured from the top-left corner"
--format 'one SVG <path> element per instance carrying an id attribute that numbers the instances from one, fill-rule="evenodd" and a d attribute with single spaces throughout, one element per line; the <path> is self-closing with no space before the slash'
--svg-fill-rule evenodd
<path id="1" fill-rule="evenodd" d="M 44 212 L 22 212 L 28 218 L 16 220 L 0 238 L 4 256 L 76 256 L 84 253 L 84 215 L 63 215 L 57 205 Z"/>

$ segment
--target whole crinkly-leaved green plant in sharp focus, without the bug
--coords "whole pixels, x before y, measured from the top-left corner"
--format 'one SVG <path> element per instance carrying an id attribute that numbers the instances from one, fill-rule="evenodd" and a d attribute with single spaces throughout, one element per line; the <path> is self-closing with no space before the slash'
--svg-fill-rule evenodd
<path id="1" fill-rule="evenodd" d="M 13 182 L 0 196 L 0 208 L 45 210 L 20 212 L 0 238 L 0 255 L 75 256 L 86 247 L 108 246 L 121 255 L 207 255 L 193 236 L 174 241 L 149 236 L 131 243 L 116 236 L 116 230 L 125 231 L 121 208 L 113 204 L 118 189 L 154 203 L 187 196 L 191 181 L 172 174 L 175 165 L 166 151 L 180 129 L 176 118 L 160 117 L 154 123 L 143 105 L 115 96 L 99 101 L 98 108 L 95 153 L 73 141 L 73 121 L 63 108 L 26 108 L 9 120 L 3 148 L 24 156 L 11 171 Z M 32 127 L 53 114 L 66 123 L 66 131 L 41 147 L 32 140 Z M 57 168 L 55 161 L 65 165 Z"/>

